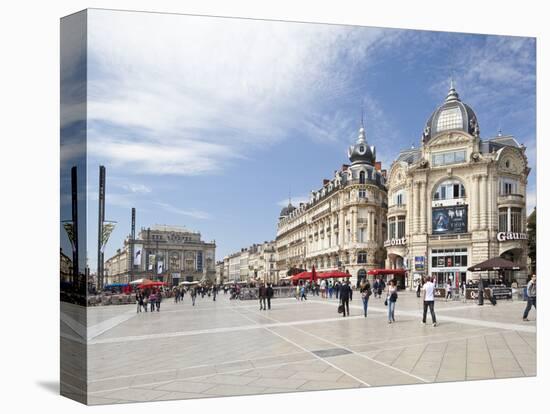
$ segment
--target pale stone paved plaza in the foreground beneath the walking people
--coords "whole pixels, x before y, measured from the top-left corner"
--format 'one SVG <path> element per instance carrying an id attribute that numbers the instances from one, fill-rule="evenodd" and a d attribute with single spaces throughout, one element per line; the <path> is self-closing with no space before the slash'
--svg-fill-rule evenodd
<path id="1" fill-rule="evenodd" d="M 536 375 L 536 326 L 525 302 L 436 302 L 439 325 L 421 324 L 421 301 L 399 295 L 396 323 L 383 299 L 363 317 L 359 293 L 351 317 L 336 299 L 257 301 L 205 296 L 195 307 L 162 302 L 88 309 L 88 403 L 206 398 Z M 63 340 L 82 335 L 65 312 Z M 80 332 L 79 332 L 80 331 Z"/>

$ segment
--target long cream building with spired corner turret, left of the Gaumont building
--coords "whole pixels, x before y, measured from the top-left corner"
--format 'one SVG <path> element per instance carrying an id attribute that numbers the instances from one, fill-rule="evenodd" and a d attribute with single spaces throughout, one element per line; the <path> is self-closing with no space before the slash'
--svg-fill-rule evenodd
<path id="1" fill-rule="evenodd" d="M 279 277 L 293 268 L 348 271 L 352 283 L 384 264 L 387 193 L 385 171 L 359 129 L 349 147 L 351 165 L 312 191 L 310 201 L 282 209 L 277 227 Z"/>

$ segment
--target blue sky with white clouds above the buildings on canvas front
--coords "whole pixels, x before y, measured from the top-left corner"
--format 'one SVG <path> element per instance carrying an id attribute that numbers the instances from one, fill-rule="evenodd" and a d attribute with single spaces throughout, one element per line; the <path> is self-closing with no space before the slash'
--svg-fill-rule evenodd
<path id="1" fill-rule="evenodd" d="M 532 168 L 535 40 L 360 26 L 88 12 L 87 214 L 107 168 L 105 257 L 136 227 L 185 226 L 216 260 L 275 239 L 281 208 L 347 163 L 364 112 L 389 169 L 420 145 L 451 77 L 481 138 L 513 135 Z M 88 246 L 97 232 L 88 231 Z M 95 270 L 95 254 L 89 252 Z"/>

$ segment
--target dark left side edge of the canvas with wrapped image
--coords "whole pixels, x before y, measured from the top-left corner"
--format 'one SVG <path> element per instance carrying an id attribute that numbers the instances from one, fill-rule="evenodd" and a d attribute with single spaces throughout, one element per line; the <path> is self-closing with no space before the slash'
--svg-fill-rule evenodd
<path id="1" fill-rule="evenodd" d="M 60 360 L 61 395 L 87 402 L 86 319 L 87 13 L 61 19 Z"/>

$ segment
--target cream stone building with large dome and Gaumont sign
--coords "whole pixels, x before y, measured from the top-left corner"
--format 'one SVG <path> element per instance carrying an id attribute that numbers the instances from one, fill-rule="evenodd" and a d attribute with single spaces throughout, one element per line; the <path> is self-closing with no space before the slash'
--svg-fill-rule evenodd
<path id="1" fill-rule="evenodd" d="M 409 269 L 413 286 L 426 274 L 439 284 L 478 279 L 467 268 L 495 256 L 526 266 L 529 171 L 514 137 L 480 138 L 475 112 L 451 84 L 421 146 L 390 168 L 386 267 Z M 525 282 L 526 272 L 514 277 Z"/>

